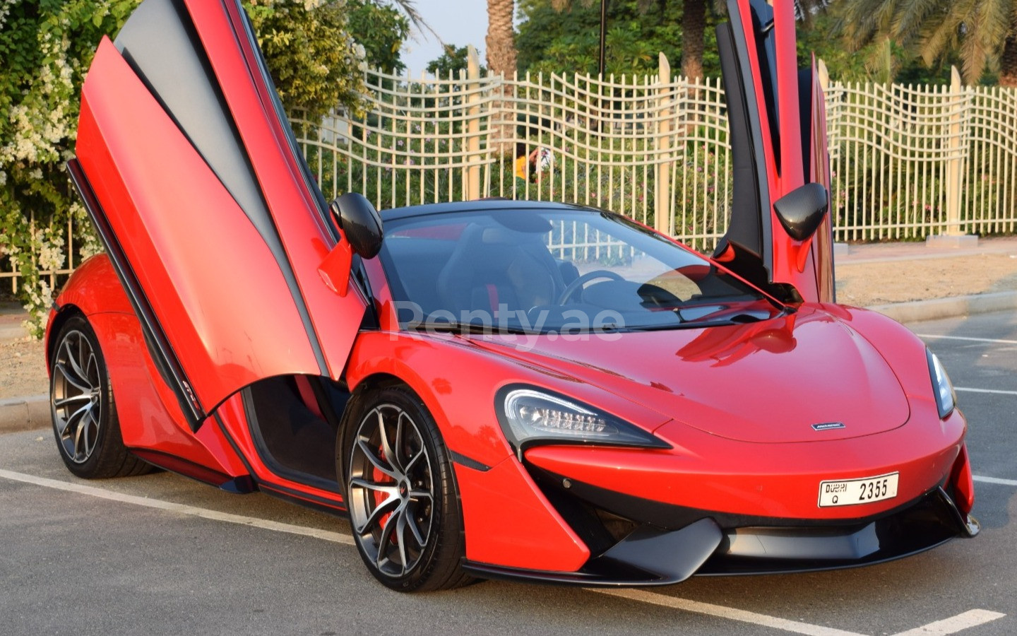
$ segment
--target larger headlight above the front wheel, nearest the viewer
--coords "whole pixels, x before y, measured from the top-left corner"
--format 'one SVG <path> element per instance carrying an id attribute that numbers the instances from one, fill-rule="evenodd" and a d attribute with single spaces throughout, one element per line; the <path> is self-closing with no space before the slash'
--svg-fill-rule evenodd
<path id="1" fill-rule="evenodd" d="M 671 448 L 651 433 L 590 406 L 518 385 L 498 391 L 494 408 L 519 454 L 537 442 Z"/>

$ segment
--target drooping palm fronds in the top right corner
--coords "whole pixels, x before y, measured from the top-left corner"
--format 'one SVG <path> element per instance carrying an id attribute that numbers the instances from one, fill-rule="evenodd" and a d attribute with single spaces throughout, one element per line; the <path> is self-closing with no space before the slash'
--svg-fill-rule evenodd
<path id="1" fill-rule="evenodd" d="M 856 47 L 889 39 L 932 64 L 957 51 L 975 82 L 998 60 L 1000 83 L 1017 86 L 1017 0 L 853 0 L 841 26 Z"/>

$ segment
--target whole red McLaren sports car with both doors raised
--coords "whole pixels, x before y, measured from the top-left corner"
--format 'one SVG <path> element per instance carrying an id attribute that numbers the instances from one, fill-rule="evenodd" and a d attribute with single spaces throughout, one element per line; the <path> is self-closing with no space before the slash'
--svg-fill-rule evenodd
<path id="1" fill-rule="evenodd" d="M 974 535 L 943 366 L 834 303 L 791 3 L 728 12 L 734 200 L 707 258 L 577 206 L 330 206 L 239 2 L 145 0 L 99 46 L 68 164 L 106 254 L 47 331 L 67 467 L 349 515 L 407 591 L 850 567 Z"/>

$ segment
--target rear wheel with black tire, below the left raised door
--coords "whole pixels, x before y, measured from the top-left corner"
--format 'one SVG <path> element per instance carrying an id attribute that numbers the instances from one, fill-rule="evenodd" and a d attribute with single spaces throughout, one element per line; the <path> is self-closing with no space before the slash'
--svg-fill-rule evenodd
<path id="1" fill-rule="evenodd" d="M 124 447 L 99 338 L 88 321 L 64 323 L 50 360 L 50 415 L 60 458 L 78 477 L 101 479 L 151 470 Z"/>

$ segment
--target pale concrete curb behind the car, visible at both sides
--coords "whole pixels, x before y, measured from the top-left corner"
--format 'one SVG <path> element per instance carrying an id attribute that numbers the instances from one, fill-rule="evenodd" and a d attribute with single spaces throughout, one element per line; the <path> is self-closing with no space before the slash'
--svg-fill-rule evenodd
<path id="1" fill-rule="evenodd" d="M 1017 310 L 1017 291 L 916 300 L 866 307 L 898 323 L 919 323 L 990 311 Z M 47 428 L 50 425 L 50 398 L 34 395 L 0 400 L 0 435 Z"/>

